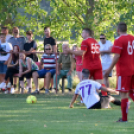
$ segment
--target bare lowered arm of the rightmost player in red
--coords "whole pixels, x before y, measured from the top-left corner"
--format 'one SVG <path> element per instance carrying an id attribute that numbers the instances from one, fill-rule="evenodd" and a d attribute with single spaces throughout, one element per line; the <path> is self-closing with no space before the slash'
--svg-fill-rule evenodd
<path id="1" fill-rule="evenodd" d="M 109 75 L 109 73 L 111 72 L 111 70 L 113 69 L 113 67 L 114 67 L 114 65 L 118 62 L 118 60 L 119 60 L 119 58 L 120 58 L 120 54 L 115 54 L 114 55 L 114 58 L 113 58 L 113 61 L 112 61 L 112 63 L 111 63 L 111 65 L 110 65 L 110 67 L 106 70 L 106 72 L 105 72 L 105 76 L 108 76 Z"/>

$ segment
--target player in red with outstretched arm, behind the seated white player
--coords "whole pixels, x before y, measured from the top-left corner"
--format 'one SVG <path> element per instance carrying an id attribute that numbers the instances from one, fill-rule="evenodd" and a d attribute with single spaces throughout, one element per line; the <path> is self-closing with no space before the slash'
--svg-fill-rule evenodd
<path id="1" fill-rule="evenodd" d="M 90 71 L 90 77 L 102 83 L 102 66 L 100 61 L 99 44 L 92 37 L 92 31 L 89 28 L 84 28 L 82 31 L 83 41 L 81 50 L 68 50 L 75 55 L 83 56 L 83 68 Z"/>

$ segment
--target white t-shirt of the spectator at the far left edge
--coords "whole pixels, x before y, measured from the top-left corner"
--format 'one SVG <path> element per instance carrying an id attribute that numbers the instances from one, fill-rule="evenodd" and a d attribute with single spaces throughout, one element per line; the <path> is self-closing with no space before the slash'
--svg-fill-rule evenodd
<path id="1" fill-rule="evenodd" d="M 8 42 L 1 43 L 0 45 L 1 45 L 0 47 L 2 48 L 2 50 L 4 50 L 5 52 L 10 52 L 10 50 L 13 50 L 12 45 Z M 9 56 L 10 56 L 10 53 L 8 53 L 7 55 L 2 55 L 0 53 L 0 61 L 7 61 Z"/>

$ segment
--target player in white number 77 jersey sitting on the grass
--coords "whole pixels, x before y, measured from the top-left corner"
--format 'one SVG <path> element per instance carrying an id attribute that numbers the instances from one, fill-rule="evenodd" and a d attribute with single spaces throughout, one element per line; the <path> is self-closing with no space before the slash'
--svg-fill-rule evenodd
<path id="1" fill-rule="evenodd" d="M 103 90 L 106 92 L 119 94 L 118 91 L 102 87 L 102 85 L 96 81 L 89 79 L 90 72 L 88 69 L 82 70 L 82 81 L 77 85 L 75 90 L 75 95 L 72 98 L 70 103 L 70 108 L 73 108 L 73 104 L 78 97 L 78 94 L 81 95 L 83 103 L 88 109 L 101 109 L 108 108 L 109 102 L 115 101 L 115 98 L 112 96 L 100 97 L 97 90 Z"/>

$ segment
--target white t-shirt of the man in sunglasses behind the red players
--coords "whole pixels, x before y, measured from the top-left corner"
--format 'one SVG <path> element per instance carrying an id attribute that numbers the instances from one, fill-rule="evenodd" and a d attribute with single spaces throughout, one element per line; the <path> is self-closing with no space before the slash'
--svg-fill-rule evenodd
<path id="1" fill-rule="evenodd" d="M 111 46 L 113 46 L 112 42 L 109 40 L 106 40 L 105 44 L 102 44 L 100 41 L 99 45 L 100 45 L 100 52 L 107 51 L 110 49 Z M 109 68 L 110 64 L 112 63 L 112 59 L 113 59 L 112 54 L 104 54 L 101 56 L 101 63 L 102 63 L 103 70 L 106 70 Z"/>

